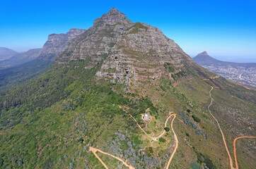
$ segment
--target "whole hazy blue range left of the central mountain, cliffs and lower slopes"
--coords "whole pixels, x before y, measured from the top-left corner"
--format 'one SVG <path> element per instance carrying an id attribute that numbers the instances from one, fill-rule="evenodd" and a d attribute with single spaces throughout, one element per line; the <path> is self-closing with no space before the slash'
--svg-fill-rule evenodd
<path id="1" fill-rule="evenodd" d="M 58 54 L 64 51 L 71 39 L 82 32 L 84 30 L 72 28 L 66 34 L 49 35 L 42 49 L 30 49 L 0 62 L 0 66 L 5 67 L 5 69 L 0 70 L 0 90 L 40 75 L 52 64 Z M 13 67 L 6 68 L 7 65 L 13 65 Z"/>

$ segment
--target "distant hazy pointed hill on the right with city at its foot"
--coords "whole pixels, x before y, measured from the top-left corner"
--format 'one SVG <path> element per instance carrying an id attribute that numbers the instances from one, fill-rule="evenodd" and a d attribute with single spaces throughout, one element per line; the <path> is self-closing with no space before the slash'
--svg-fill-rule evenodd
<path id="1" fill-rule="evenodd" d="M 198 54 L 193 60 L 213 73 L 229 80 L 256 86 L 256 63 L 233 63 L 212 58 L 206 51 Z"/>

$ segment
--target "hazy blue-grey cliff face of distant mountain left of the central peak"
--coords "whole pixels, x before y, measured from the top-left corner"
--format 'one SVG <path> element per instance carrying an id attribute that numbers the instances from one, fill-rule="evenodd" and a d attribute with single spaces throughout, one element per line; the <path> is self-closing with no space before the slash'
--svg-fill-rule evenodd
<path id="1" fill-rule="evenodd" d="M 55 55 L 64 51 L 71 39 L 74 39 L 78 35 L 81 35 L 85 30 L 72 28 L 66 34 L 51 34 L 48 36 L 47 42 L 45 42 L 40 52 L 39 58 L 47 59 L 47 56 Z M 53 58 L 54 58 L 53 57 Z"/>

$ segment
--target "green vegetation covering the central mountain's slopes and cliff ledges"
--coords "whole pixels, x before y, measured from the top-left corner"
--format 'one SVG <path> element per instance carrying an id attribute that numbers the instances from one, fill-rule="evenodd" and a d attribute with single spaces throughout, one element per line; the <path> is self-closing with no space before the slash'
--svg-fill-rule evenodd
<path id="1" fill-rule="evenodd" d="M 107 27 L 100 36 L 114 35 L 111 27 L 115 26 Z M 148 27 L 135 23 L 129 33 L 141 33 L 140 29 L 147 30 Z M 75 40 L 83 40 L 86 36 L 83 34 Z M 96 43 L 100 43 L 98 40 Z M 183 68 L 170 63 L 158 66 L 147 60 L 149 56 L 157 57 L 158 52 L 153 49 L 144 54 L 125 46 L 122 48 L 125 55 L 138 62 L 144 61 L 144 68 L 146 64 L 156 70 L 159 68 L 163 77 L 149 81 L 131 78 L 131 86 L 113 83 L 107 77 L 95 77 L 107 58 L 105 54 L 97 56 L 101 57 L 99 63 L 91 57 L 65 60 L 62 65 L 53 63 L 40 77 L 2 91 L 0 167 L 103 168 L 93 153 L 88 152 L 93 146 L 132 163 L 134 168 L 164 168 L 170 146 L 175 145 L 173 133 L 169 132 L 171 120 L 164 128 L 167 133 L 159 142 L 151 142 L 129 114 L 146 133 L 157 136 L 163 132 L 166 117 L 173 112 L 177 115 L 173 127 L 179 146 L 170 168 L 202 168 L 204 165 L 207 168 L 228 168 L 227 156 L 223 155 L 226 151 L 219 144 L 222 142 L 221 134 L 206 109 L 210 102 L 209 89 L 215 87 L 211 110 L 220 119 L 228 147 L 232 147 L 233 138 L 237 135 L 237 131 L 231 128 L 253 134 L 253 122 L 248 120 L 254 119 L 255 92 L 221 77 L 212 80 L 209 78 L 212 73 L 190 61 L 182 61 Z M 65 51 L 60 57 L 69 56 L 72 52 Z M 94 66 L 85 69 L 88 65 Z M 162 66 L 165 73 L 162 73 Z M 180 72 L 174 74 L 176 68 Z M 110 68 L 106 71 L 115 73 L 117 70 Z M 153 74 L 144 71 L 141 69 L 138 75 Z M 175 80 L 170 78 L 170 73 Z M 197 116 L 192 115 L 195 112 Z M 246 120 L 233 119 L 230 116 L 233 112 L 240 112 L 240 118 L 245 117 Z M 142 120 L 141 114 L 144 113 L 149 113 L 151 119 Z M 191 115 L 198 123 L 192 120 Z M 249 127 L 252 130 L 248 130 Z M 248 142 L 244 143 L 238 153 L 252 148 Z M 122 163 L 115 158 L 97 154 L 108 168 L 121 168 Z M 255 166 L 251 154 L 240 153 L 239 158 L 241 168 Z M 197 163 L 194 163 L 195 159 Z"/>

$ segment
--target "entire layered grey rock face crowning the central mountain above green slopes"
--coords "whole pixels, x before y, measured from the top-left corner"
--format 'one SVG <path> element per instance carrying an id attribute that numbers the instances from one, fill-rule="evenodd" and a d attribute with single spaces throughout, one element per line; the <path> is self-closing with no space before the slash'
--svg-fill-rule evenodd
<path id="1" fill-rule="evenodd" d="M 157 27 L 132 23 L 115 8 L 73 39 L 58 63 L 80 59 L 91 61 L 86 69 L 103 61 L 96 75 L 125 84 L 157 80 L 163 75 L 171 77 L 182 71 L 185 61 L 192 61 Z"/>

